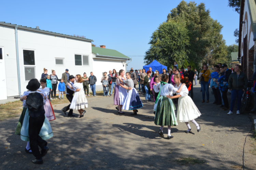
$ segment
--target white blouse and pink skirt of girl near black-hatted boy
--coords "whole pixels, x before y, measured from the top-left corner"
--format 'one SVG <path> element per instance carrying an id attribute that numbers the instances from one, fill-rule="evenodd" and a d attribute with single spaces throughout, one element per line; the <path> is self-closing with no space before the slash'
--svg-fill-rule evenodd
<path id="1" fill-rule="evenodd" d="M 44 115 L 46 116 L 48 121 L 55 120 L 56 118 L 55 118 L 55 114 L 53 111 L 53 106 L 48 99 L 50 89 L 48 87 L 45 87 L 44 89 L 39 88 L 38 91 L 40 91 L 46 97 L 46 99 L 44 100 L 44 102 L 45 102 L 45 105 L 44 105 L 45 114 Z"/>

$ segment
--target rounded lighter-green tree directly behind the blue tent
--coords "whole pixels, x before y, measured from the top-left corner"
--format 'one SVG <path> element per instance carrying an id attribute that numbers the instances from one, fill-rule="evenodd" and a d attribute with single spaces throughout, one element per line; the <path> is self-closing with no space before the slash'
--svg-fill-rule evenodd
<path id="1" fill-rule="evenodd" d="M 151 47 L 145 52 L 144 63 L 157 60 L 171 67 L 174 61 L 183 65 L 188 59 L 189 35 L 183 23 L 167 21 L 160 24 L 153 32 L 148 43 Z"/>

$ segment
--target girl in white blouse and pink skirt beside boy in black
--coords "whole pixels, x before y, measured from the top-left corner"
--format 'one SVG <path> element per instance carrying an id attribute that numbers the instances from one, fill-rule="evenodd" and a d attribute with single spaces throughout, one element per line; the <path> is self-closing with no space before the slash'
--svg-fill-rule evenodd
<path id="1" fill-rule="evenodd" d="M 55 118 L 55 114 L 54 114 L 54 111 L 53 111 L 53 106 L 52 106 L 51 102 L 48 99 L 48 96 L 49 96 L 49 93 L 50 93 L 50 89 L 48 87 L 45 87 L 46 80 L 45 79 L 41 79 L 40 80 L 40 85 L 42 86 L 42 88 L 39 88 L 37 91 L 39 91 L 42 94 L 44 94 L 44 100 L 45 100 L 44 111 L 45 111 L 45 116 L 46 116 L 48 121 L 55 120 L 56 118 Z"/>

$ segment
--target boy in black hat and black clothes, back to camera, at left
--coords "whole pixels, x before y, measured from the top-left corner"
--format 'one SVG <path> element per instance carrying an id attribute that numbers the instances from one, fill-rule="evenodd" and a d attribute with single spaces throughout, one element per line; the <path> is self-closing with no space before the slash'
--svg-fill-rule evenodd
<path id="1" fill-rule="evenodd" d="M 43 164 L 42 157 L 45 156 L 49 150 L 47 147 L 47 142 L 39 136 L 45 119 L 45 103 L 43 95 L 37 92 L 37 89 L 39 88 L 40 83 L 37 79 L 31 79 L 28 82 L 27 89 L 30 90 L 30 93 L 26 99 L 29 114 L 28 136 L 30 149 L 35 156 L 35 160 L 32 160 L 34 164 Z M 38 146 L 42 149 L 41 153 Z"/>

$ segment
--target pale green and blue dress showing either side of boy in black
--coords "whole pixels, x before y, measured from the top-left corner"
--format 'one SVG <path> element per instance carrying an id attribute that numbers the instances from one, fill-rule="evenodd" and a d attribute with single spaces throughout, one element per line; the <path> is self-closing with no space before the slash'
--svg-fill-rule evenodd
<path id="1" fill-rule="evenodd" d="M 30 93 L 30 91 L 27 91 L 26 94 L 24 94 L 23 96 L 29 95 L 29 93 Z M 42 94 L 42 92 L 39 92 L 39 93 Z M 24 101 L 23 101 L 23 106 L 25 108 L 27 108 L 28 105 L 26 104 L 26 101 L 25 102 Z M 26 113 L 25 113 L 25 116 L 24 116 L 24 119 L 23 119 L 22 128 L 20 130 L 20 138 L 24 141 L 29 141 L 29 136 L 28 136 L 29 122 L 28 122 L 28 120 L 29 120 L 29 113 L 28 113 L 28 109 L 27 109 Z M 45 119 L 44 119 L 43 126 L 40 130 L 39 136 L 43 140 L 47 140 L 47 139 L 53 137 L 53 131 L 52 131 L 51 125 L 50 125 L 49 121 L 47 120 L 46 116 L 45 116 Z"/>

